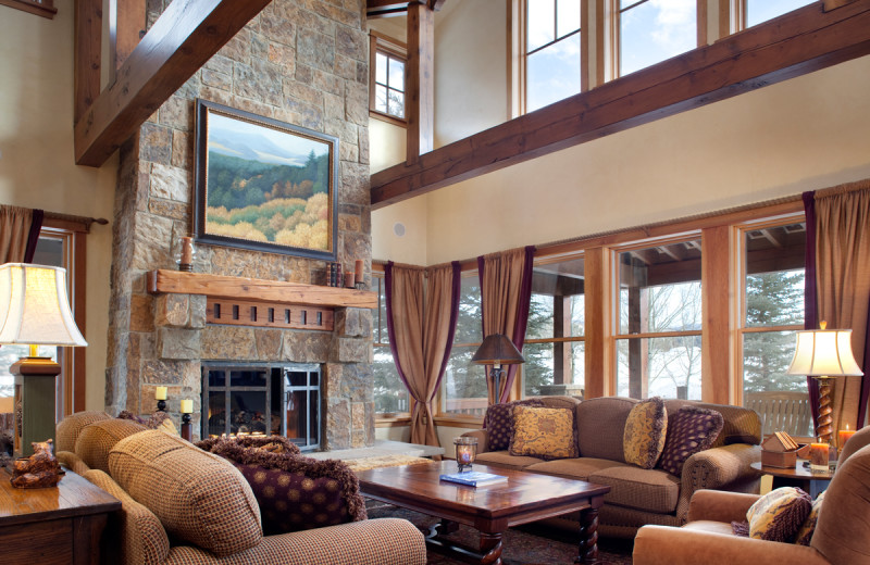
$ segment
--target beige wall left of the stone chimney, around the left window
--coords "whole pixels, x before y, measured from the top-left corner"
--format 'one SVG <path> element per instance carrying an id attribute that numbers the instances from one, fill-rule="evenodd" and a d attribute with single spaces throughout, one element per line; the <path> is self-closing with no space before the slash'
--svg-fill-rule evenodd
<path id="1" fill-rule="evenodd" d="M 47 20 L 0 5 L 0 203 L 112 218 L 116 158 L 73 153 L 73 2 Z M 95 225 L 87 259 L 87 409 L 102 410 L 111 226 Z"/>

